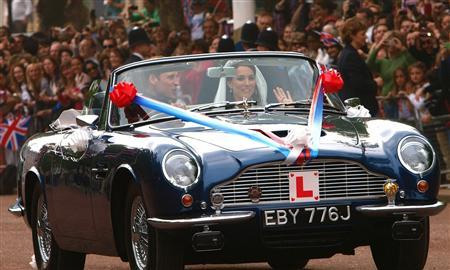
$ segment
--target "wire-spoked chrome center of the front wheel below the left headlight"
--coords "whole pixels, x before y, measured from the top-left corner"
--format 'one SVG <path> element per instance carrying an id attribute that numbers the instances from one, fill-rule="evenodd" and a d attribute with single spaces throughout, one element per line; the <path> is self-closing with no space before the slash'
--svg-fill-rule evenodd
<path id="1" fill-rule="evenodd" d="M 139 269 L 146 269 L 148 263 L 148 226 L 147 215 L 140 196 L 136 197 L 131 206 L 131 244 Z"/>

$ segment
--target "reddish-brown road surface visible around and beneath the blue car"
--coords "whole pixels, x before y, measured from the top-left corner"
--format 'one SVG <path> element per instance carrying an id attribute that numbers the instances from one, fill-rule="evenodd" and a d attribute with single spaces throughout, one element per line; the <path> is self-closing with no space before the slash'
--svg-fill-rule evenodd
<path id="1" fill-rule="evenodd" d="M 0 196 L 0 269 L 2 270 L 31 270 L 29 265 L 32 251 L 31 230 L 21 218 L 16 218 L 7 212 L 9 204 L 14 202 L 15 196 Z M 450 207 L 438 216 L 431 218 L 431 241 L 428 261 L 425 269 L 450 269 Z M 87 270 L 125 270 L 128 264 L 118 258 L 88 255 Z M 268 270 L 265 263 L 239 265 L 195 265 L 188 266 L 189 270 L 226 270 L 253 269 Z M 355 256 L 335 255 L 330 259 L 312 260 L 306 269 L 309 270 L 350 270 L 376 269 L 370 249 L 361 247 L 356 249 Z"/>

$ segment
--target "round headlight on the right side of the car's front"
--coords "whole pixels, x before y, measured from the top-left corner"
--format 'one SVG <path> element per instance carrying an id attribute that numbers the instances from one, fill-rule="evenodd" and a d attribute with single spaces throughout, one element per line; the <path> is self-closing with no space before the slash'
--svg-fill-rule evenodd
<path id="1" fill-rule="evenodd" d="M 398 156 L 403 166 L 416 174 L 429 170 L 435 159 L 430 143 L 418 136 L 404 138 L 399 144 Z"/>

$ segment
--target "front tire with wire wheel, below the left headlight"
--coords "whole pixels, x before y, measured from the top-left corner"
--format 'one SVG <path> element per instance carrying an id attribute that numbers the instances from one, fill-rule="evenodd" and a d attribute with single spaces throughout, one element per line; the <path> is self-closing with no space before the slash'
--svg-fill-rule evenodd
<path id="1" fill-rule="evenodd" d="M 125 244 L 133 270 L 184 269 L 183 249 L 166 232 L 152 228 L 147 222 L 141 190 L 132 184 L 125 203 Z"/>

